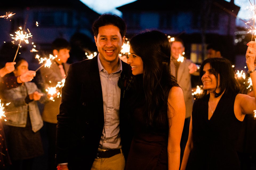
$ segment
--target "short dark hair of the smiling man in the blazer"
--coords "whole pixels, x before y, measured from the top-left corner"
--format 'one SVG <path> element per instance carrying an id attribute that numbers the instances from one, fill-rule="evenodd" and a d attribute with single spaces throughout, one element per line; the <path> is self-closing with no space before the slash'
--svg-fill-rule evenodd
<path id="1" fill-rule="evenodd" d="M 94 36 L 97 37 L 99 33 L 99 27 L 105 25 L 114 25 L 119 28 L 121 36 L 126 34 L 126 24 L 125 21 L 117 15 L 112 14 L 102 14 L 97 20 L 94 21 L 92 29 Z"/>

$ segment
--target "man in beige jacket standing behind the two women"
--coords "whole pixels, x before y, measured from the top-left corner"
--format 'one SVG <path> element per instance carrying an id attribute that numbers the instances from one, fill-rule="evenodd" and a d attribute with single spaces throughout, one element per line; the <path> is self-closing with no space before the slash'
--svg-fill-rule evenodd
<path id="1" fill-rule="evenodd" d="M 179 58 L 183 57 L 184 53 L 185 47 L 183 41 L 179 38 L 175 38 L 175 40 L 171 42 L 171 56 L 172 59 L 174 59 L 174 62 L 170 63 L 170 67 L 171 73 L 176 78 L 179 86 L 183 90 L 186 105 L 186 118 L 181 136 L 181 160 L 186 147 L 187 138 L 189 136 L 189 122 L 194 103 L 194 97 L 191 94 L 191 75 L 199 75 L 197 72 L 197 66 L 191 60 L 179 60 Z"/>

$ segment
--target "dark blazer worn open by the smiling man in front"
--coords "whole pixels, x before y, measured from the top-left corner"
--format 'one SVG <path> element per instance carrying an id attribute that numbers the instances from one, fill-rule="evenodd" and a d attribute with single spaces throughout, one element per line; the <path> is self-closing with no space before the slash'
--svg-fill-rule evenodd
<path id="1" fill-rule="evenodd" d="M 98 57 L 98 56 L 97 56 Z M 70 65 L 62 88 L 62 103 L 57 116 L 57 163 L 68 163 L 69 170 L 91 169 L 99 147 L 103 126 L 103 99 L 97 57 Z M 122 73 L 131 75 L 131 68 L 122 62 Z M 123 116 L 127 94 L 120 96 L 120 134 L 122 150 L 128 154 L 130 126 Z"/>

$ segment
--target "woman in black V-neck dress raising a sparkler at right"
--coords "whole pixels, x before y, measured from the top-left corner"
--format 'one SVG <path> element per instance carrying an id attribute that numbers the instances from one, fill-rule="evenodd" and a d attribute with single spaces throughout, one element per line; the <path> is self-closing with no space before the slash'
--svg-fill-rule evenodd
<path id="1" fill-rule="evenodd" d="M 254 41 L 247 45 L 246 64 L 254 87 L 256 45 Z M 204 91 L 193 105 L 181 170 L 241 169 L 236 145 L 245 114 L 256 109 L 255 97 L 238 94 L 233 68 L 225 58 L 204 60 L 200 76 Z"/>

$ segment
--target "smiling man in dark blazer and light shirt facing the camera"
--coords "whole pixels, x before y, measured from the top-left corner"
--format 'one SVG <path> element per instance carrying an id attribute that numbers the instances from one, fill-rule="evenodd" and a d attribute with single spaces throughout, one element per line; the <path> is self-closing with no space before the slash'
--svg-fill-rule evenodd
<path id="1" fill-rule="evenodd" d="M 122 138 L 127 137 L 121 128 L 126 97 L 117 84 L 120 76 L 131 72 L 118 57 L 126 24 L 117 15 L 103 14 L 92 29 L 98 55 L 71 64 L 62 88 L 57 116 L 58 168 L 123 170 L 129 140 Z"/>

